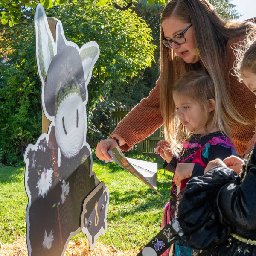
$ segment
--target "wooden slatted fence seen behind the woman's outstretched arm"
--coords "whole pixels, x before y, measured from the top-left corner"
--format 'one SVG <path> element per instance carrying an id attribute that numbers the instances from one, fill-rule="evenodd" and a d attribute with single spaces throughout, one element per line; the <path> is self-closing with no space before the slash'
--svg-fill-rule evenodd
<path id="1" fill-rule="evenodd" d="M 132 108 L 133 107 L 116 107 L 116 108 L 110 109 L 112 120 L 115 127 L 129 113 L 129 111 L 131 111 Z M 154 153 L 154 149 L 157 146 L 157 142 L 163 139 L 164 137 L 163 137 L 163 125 L 162 125 L 145 140 L 134 145 L 133 149 L 136 148 L 138 154 L 146 153 L 149 156 L 155 157 L 156 154 Z"/>

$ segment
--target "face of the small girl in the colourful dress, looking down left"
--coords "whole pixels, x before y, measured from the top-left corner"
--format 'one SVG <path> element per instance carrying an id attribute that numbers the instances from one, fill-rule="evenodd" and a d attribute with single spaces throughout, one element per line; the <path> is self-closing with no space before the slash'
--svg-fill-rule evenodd
<path id="1" fill-rule="evenodd" d="M 207 117 L 199 103 L 189 97 L 180 97 L 177 93 L 173 93 L 173 100 L 177 116 L 186 129 L 194 131 L 195 134 L 204 133 L 205 129 L 200 126 Z"/>

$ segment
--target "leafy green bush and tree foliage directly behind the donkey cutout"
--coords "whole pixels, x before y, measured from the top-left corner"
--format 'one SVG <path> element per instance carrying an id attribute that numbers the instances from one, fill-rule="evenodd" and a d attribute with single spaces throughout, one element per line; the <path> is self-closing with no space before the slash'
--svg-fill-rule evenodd
<path id="1" fill-rule="evenodd" d="M 125 4 L 119 1 L 119 4 Z M 112 2 L 101 6 L 95 0 L 74 0 L 47 11 L 61 20 L 68 41 L 81 47 L 96 41 L 100 57 L 88 85 L 88 137 L 93 129 L 93 110 L 103 101 L 113 81 L 125 81 L 154 61 L 151 29 L 128 9 L 114 8 Z M 39 81 L 35 65 L 34 23 L 6 25 L 0 33 L 1 49 L 6 58 L 0 64 L 0 161 L 14 164 L 24 147 L 34 143 L 41 133 Z M 100 133 L 100 132 L 99 132 Z"/>

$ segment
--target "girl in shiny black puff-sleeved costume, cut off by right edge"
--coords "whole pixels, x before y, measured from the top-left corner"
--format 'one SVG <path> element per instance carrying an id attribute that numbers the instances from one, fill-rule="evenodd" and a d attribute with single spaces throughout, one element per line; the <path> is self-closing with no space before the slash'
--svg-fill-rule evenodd
<path id="1" fill-rule="evenodd" d="M 235 70 L 239 80 L 256 95 L 255 40 L 256 33 L 251 34 L 237 49 Z M 160 233 L 146 245 L 151 246 L 147 256 L 158 256 L 166 250 L 175 240 L 169 239 L 175 230 L 183 244 L 207 249 L 199 251 L 200 256 L 256 256 L 256 145 L 246 160 L 234 156 L 223 162 L 217 159 L 207 165 L 205 172 L 189 180 L 186 190 L 175 198 L 171 208 L 178 221 L 171 221 L 167 242 L 163 236 L 157 240 L 157 247 L 153 247 L 157 253 L 151 250 L 151 244 L 155 246 Z M 144 256 L 143 250 L 138 255 Z"/>

